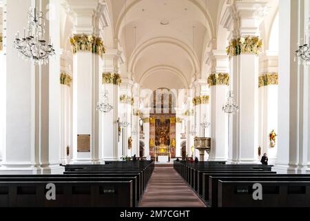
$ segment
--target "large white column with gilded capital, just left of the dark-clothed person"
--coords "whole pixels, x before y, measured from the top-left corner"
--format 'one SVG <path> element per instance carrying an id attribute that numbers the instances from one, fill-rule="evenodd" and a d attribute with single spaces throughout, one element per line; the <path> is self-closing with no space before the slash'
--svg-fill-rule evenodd
<path id="1" fill-rule="evenodd" d="M 234 90 L 234 98 L 240 110 L 233 115 L 230 122 L 232 149 L 232 163 L 256 163 L 256 150 L 258 148 L 258 52 L 249 51 L 249 44 L 259 37 L 260 18 L 255 7 L 256 2 L 234 1 L 222 19 L 222 24 L 229 29 L 229 40 L 241 45 L 238 51 L 231 44 L 229 52 L 231 88 Z M 260 2 L 260 8 L 266 3 Z M 249 36 L 250 43 L 242 41 L 242 38 Z M 238 39 L 241 37 L 241 39 Z M 254 50 L 259 49 L 254 46 Z M 256 54 L 257 52 L 257 54 Z"/>

